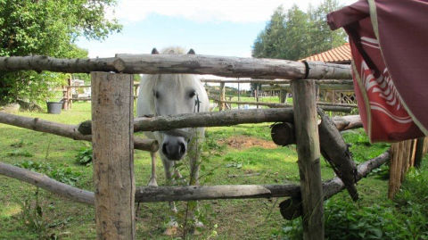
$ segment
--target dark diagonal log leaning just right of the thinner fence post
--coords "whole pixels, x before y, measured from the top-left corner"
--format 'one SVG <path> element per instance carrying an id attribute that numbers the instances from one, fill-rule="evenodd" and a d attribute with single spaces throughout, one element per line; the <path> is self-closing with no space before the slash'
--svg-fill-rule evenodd
<path id="1" fill-rule="evenodd" d="M 321 123 L 318 126 L 321 154 L 332 165 L 336 175 L 342 179 L 352 200 L 358 200 L 358 192 L 355 187 L 357 167 L 352 159 L 349 146 L 343 140 L 339 130 L 325 113 L 318 108 Z"/>

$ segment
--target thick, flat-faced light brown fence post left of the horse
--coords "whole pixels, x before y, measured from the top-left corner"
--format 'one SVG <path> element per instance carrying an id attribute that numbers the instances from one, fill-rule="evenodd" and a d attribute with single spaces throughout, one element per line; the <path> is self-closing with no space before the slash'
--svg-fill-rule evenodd
<path id="1" fill-rule="evenodd" d="M 92 72 L 97 239 L 135 239 L 133 76 Z"/>

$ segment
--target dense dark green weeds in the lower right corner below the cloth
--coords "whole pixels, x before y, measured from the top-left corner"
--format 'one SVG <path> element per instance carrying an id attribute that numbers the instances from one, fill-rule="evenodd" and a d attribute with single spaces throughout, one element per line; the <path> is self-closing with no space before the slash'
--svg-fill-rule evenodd
<path id="1" fill-rule="evenodd" d="M 383 167 L 383 172 L 387 170 Z M 379 174 L 379 173 L 374 173 Z M 374 175 L 372 174 L 372 175 Z M 327 239 L 428 239 L 428 172 L 410 170 L 394 202 L 351 203 L 346 194 L 325 202 Z M 394 208 L 395 206 L 395 208 Z M 288 221 L 273 236 L 300 239 L 301 219 Z"/>

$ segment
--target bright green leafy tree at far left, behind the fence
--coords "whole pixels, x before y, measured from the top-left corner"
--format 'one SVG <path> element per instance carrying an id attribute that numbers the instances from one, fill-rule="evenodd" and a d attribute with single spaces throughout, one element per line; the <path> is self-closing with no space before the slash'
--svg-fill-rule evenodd
<path id="1" fill-rule="evenodd" d="M 0 0 L 0 55 L 86 57 L 78 37 L 104 39 L 121 26 L 104 10 L 116 0 Z M 44 71 L 0 72 L 0 104 L 45 101 L 67 75 Z"/>

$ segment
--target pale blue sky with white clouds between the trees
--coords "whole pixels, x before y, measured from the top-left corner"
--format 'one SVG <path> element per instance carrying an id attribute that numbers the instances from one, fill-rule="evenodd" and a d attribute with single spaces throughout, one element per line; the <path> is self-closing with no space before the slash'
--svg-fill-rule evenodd
<path id="1" fill-rule="evenodd" d="M 356 0 L 338 0 L 352 4 Z M 169 46 L 193 48 L 196 54 L 251 57 L 251 46 L 279 5 L 306 11 L 320 0 L 119 0 L 109 18 L 123 25 L 103 41 L 78 39 L 89 57 L 150 54 Z M 248 84 L 247 84 L 248 85 Z M 242 88 L 248 88 L 249 85 Z M 231 86 L 232 87 L 232 86 Z M 234 86 L 235 87 L 235 86 Z"/>

